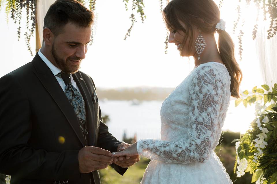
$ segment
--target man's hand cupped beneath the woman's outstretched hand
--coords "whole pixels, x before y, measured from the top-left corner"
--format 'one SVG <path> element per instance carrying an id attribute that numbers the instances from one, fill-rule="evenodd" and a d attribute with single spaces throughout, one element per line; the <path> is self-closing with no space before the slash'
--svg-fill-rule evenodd
<path id="1" fill-rule="evenodd" d="M 117 147 L 117 152 L 119 150 L 120 151 L 124 150 L 128 146 L 130 146 L 130 144 L 121 143 Z M 134 165 L 136 162 L 139 162 L 139 155 L 114 157 L 114 163 L 122 168 L 130 167 L 130 166 Z"/>

